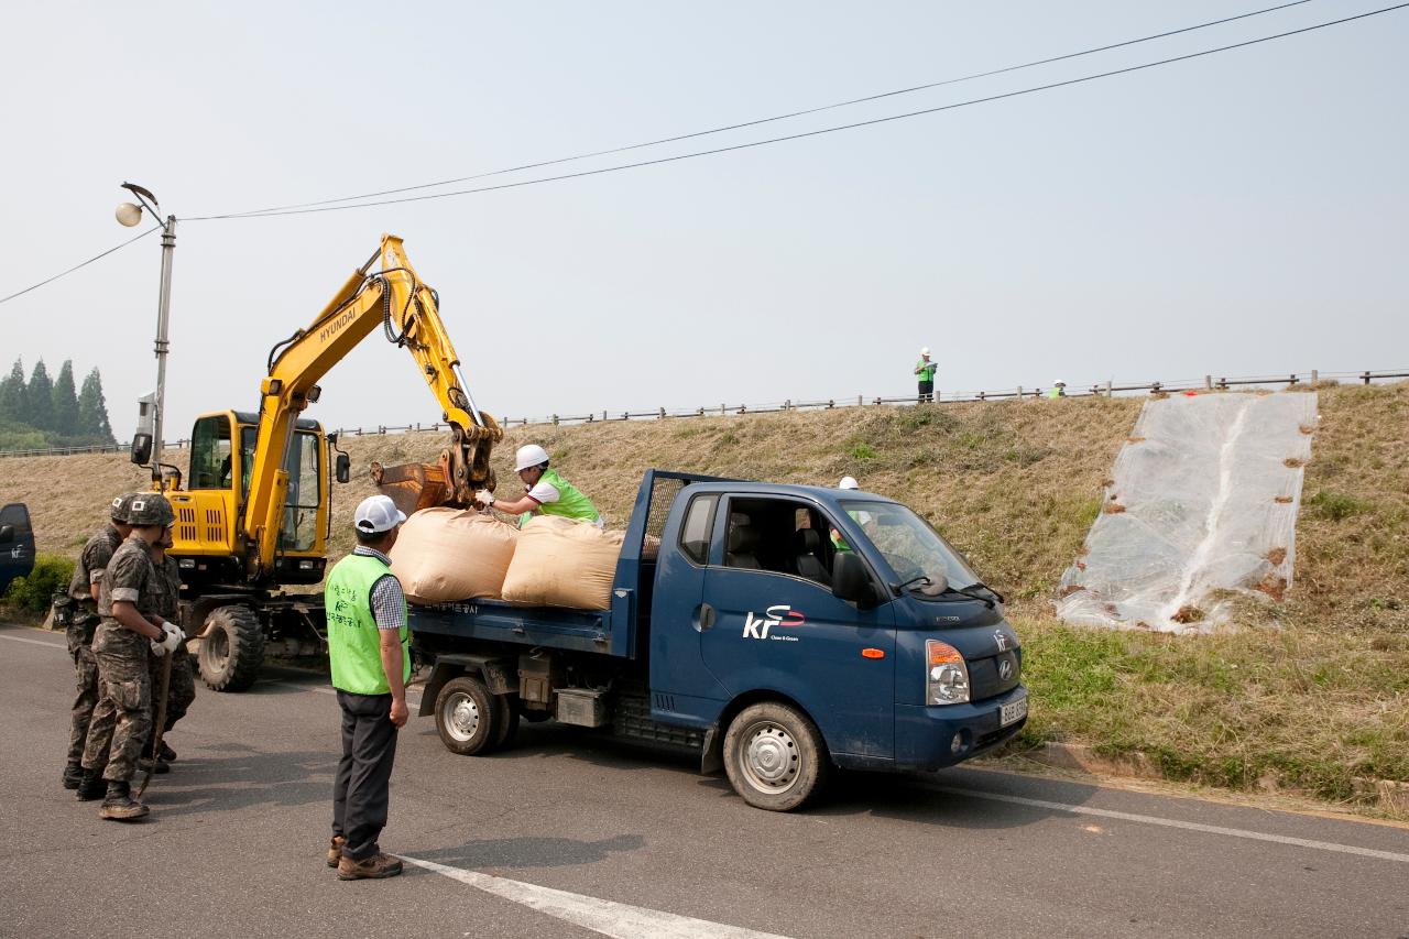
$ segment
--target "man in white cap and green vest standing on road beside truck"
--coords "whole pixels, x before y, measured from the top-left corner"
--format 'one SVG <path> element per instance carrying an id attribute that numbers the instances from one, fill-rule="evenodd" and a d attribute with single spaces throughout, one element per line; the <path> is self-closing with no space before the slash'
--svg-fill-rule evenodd
<path id="1" fill-rule="evenodd" d="M 402 522 L 406 516 L 387 496 L 364 499 L 352 516 L 358 544 L 333 567 L 324 592 L 333 687 L 342 709 L 328 846 L 328 867 L 338 869 L 338 880 L 402 873 L 402 861 L 376 843 L 386 828 L 396 730 L 410 716 L 406 596 L 387 557 Z"/>

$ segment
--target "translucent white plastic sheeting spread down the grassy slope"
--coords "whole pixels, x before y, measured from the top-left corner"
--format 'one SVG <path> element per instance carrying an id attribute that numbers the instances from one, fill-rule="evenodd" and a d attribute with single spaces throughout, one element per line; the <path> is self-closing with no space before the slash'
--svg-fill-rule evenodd
<path id="1" fill-rule="evenodd" d="M 1315 424 L 1309 392 L 1146 402 L 1057 616 L 1210 632 L 1226 620 L 1216 589 L 1281 599 Z"/>

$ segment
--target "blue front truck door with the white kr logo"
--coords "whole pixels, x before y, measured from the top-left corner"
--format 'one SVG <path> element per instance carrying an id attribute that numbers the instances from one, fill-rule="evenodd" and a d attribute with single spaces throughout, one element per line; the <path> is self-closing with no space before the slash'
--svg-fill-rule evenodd
<path id="1" fill-rule="evenodd" d="M 704 572 L 700 657 L 730 698 L 786 694 L 833 753 L 895 756 L 895 613 L 831 592 L 831 522 L 793 498 L 730 496 Z"/>

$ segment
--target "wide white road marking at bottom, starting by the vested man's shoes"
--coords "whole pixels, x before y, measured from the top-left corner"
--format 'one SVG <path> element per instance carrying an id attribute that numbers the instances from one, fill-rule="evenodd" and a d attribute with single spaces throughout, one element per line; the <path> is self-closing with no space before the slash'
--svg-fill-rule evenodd
<path id="1" fill-rule="evenodd" d="M 480 874 L 473 870 L 447 867 L 445 864 L 407 857 L 406 854 L 397 854 L 397 857 L 407 864 L 424 867 L 428 871 L 458 880 L 486 894 L 495 894 L 555 919 L 564 919 L 583 929 L 600 932 L 604 936 L 616 936 L 619 939 L 635 939 L 637 936 L 651 936 L 652 939 L 786 939 L 771 932 L 726 926 L 709 919 L 693 919 L 659 909 L 619 904 L 613 900 L 569 894 L 565 890 Z"/>

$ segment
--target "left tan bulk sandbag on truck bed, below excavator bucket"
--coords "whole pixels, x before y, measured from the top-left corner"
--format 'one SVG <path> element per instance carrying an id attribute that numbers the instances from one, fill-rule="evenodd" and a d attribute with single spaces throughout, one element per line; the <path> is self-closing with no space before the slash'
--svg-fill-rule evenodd
<path id="1" fill-rule="evenodd" d="M 499 599 L 519 529 L 478 512 L 413 512 L 392 546 L 392 572 L 413 603 Z"/>

